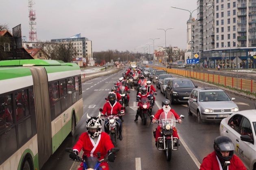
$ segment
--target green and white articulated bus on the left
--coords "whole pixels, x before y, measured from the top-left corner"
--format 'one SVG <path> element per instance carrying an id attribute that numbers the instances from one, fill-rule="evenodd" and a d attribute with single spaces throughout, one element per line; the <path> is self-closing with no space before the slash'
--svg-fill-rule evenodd
<path id="1" fill-rule="evenodd" d="M 74 135 L 82 104 L 77 64 L 0 61 L 0 170 L 39 170 Z"/>

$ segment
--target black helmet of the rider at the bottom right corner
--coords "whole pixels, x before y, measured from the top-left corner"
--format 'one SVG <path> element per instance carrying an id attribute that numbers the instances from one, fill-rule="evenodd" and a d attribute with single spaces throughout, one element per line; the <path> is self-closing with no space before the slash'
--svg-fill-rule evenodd
<path id="1" fill-rule="evenodd" d="M 232 143 L 232 140 L 226 136 L 218 136 L 215 138 L 213 148 L 219 161 L 222 163 L 229 161 L 234 155 L 234 144 Z M 223 157 L 221 151 L 229 151 L 228 157 Z"/>

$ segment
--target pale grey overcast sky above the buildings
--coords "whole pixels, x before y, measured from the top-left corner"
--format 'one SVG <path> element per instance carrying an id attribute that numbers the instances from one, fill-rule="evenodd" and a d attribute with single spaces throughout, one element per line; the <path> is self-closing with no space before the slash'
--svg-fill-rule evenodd
<path id="1" fill-rule="evenodd" d="M 93 51 L 117 49 L 144 52 L 165 46 L 165 32 L 156 28 L 174 28 L 166 32 L 166 45 L 186 49 L 189 12 L 196 0 L 33 0 L 36 12 L 37 39 L 68 38 L 81 33 L 92 40 Z M 193 13 L 196 16 L 197 11 Z M 22 36 L 28 38 L 28 0 L 2 0 L 0 24 L 9 29 L 22 25 Z M 149 52 L 149 49 L 146 52 Z"/>

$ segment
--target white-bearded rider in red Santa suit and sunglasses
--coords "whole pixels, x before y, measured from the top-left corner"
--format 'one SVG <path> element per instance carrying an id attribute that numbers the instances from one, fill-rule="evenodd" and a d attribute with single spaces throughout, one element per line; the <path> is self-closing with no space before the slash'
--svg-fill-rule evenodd
<path id="1" fill-rule="evenodd" d="M 167 114 L 169 111 L 174 114 L 174 117 L 175 117 L 176 119 L 178 119 L 178 123 L 182 123 L 182 120 L 179 119 L 180 116 L 175 112 L 174 109 L 171 109 L 170 103 L 171 103 L 171 102 L 170 102 L 170 100 L 168 100 L 168 99 L 164 99 L 164 100 L 162 101 L 162 107 L 163 107 L 163 108 L 159 109 L 159 110 L 156 112 L 156 114 L 154 115 L 154 117 L 153 117 L 153 119 L 152 119 L 152 123 L 156 123 L 156 120 L 159 119 L 161 113 L 165 112 L 165 114 Z M 157 138 L 160 137 L 160 130 L 161 130 L 161 127 L 158 125 L 158 126 L 157 126 L 157 129 L 156 129 L 156 144 L 157 144 Z M 173 132 L 172 136 L 179 138 L 178 132 L 177 132 L 176 128 L 174 128 L 174 132 Z"/>

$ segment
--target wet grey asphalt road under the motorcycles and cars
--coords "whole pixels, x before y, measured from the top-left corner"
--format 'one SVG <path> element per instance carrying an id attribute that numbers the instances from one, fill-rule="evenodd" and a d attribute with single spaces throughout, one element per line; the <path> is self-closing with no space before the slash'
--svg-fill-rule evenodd
<path id="1" fill-rule="evenodd" d="M 59 149 L 50 157 L 43 166 L 43 170 L 69 170 L 73 161 L 68 161 L 69 154 L 66 153 L 65 147 L 73 147 L 78 137 L 86 130 L 86 114 L 98 115 L 98 109 L 102 108 L 114 82 L 121 77 L 121 72 L 105 77 L 95 78 L 83 83 L 83 103 L 84 115 L 77 125 L 74 137 L 68 136 L 61 144 Z M 199 87 L 202 84 L 195 83 Z M 205 86 L 206 87 L 206 86 Z M 236 104 L 240 110 L 254 109 L 252 101 L 229 94 L 230 97 L 235 97 Z M 156 113 L 158 107 L 161 106 L 161 101 L 164 96 L 158 90 L 156 96 L 156 104 L 153 108 L 153 113 Z M 195 116 L 187 114 L 186 104 L 173 105 L 179 115 L 185 116 L 182 124 L 176 125 L 178 134 L 182 140 L 178 151 L 173 151 L 171 161 L 166 161 L 163 151 L 158 151 L 155 147 L 152 131 L 156 127 L 155 124 L 150 124 L 150 119 L 146 125 L 142 124 L 141 119 L 134 122 L 137 103 L 136 91 L 131 90 L 130 107 L 126 108 L 126 115 L 123 122 L 123 140 L 118 140 L 120 151 L 114 163 L 111 163 L 111 170 L 169 170 L 169 169 L 198 169 L 202 159 L 213 151 L 213 141 L 219 136 L 219 123 L 197 123 Z M 191 151 L 191 153 L 189 153 Z"/>

